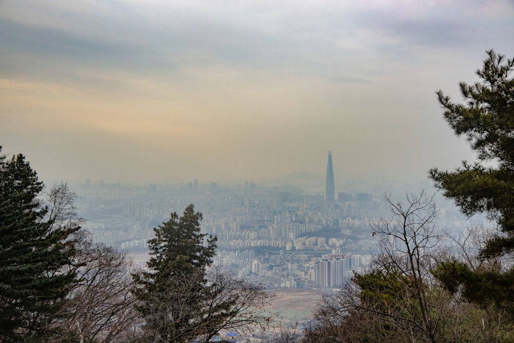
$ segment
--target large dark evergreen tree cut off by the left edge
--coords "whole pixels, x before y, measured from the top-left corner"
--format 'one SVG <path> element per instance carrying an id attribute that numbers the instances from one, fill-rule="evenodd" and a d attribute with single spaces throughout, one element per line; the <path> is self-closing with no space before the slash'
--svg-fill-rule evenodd
<path id="1" fill-rule="evenodd" d="M 68 237 L 79 227 L 53 225 L 43 187 L 23 155 L 0 147 L 0 341 L 43 339 L 75 282 Z"/>

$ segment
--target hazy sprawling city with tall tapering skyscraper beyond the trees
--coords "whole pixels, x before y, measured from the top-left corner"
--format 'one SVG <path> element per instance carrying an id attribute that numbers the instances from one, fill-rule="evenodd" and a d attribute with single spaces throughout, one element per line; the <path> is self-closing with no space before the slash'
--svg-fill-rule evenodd
<path id="1" fill-rule="evenodd" d="M 268 289 L 328 289 L 369 266 L 376 249 L 371 225 L 390 212 L 384 192 L 399 201 L 405 197 L 402 187 L 382 189 L 380 184 L 382 180 L 372 187 L 349 182 L 336 197 L 329 151 L 324 194 L 251 181 L 222 186 L 193 179 L 180 185 L 129 186 L 93 185 L 88 179 L 79 186 L 78 205 L 86 220 L 83 227 L 94 241 L 130 251 L 142 266 L 153 228 L 171 212 L 194 204 L 203 214 L 203 232 L 218 239 L 215 265 Z M 435 225 L 455 237 L 470 221 L 484 223 L 483 218 L 467 218 L 443 197 L 437 199 L 442 214 Z"/>

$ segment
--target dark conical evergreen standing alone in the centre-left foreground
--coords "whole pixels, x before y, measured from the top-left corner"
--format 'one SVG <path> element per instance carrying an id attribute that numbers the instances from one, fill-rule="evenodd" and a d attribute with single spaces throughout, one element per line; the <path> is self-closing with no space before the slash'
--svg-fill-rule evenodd
<path id="1" fill-rule="evenodd" d="M 195 319 L 207 298 L 206 267 L 216 253 L 216 237 L 200 232 L 202 215 L 189 205 L 179 216 L 154 228 L 148 271 L 135 274 L 134 293 L 145 319 L 145 335 L 155 341 L 186 341 L 198 336 Z"/>

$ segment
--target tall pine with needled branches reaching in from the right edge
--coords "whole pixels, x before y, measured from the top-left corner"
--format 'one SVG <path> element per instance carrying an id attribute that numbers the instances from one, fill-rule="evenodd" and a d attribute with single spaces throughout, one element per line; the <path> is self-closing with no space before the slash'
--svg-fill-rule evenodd
<path id="1" fill-rule="evenodd" d="M 430 170 L 435 186 L 453 199 L 463 213 L 485 212 L 497 220 L 501 233 L 488 240 L 484 257 L 514 249 L 514 60 L 487 51 L 480 82 L 459 84 L 465 103 L 454 103 L 442 91 L 438 100 L 444 117 L 457 136 L 465 135 L 478 153 L 478 162 L 455 171 Z M 488 167 L 484 162 L 492 161 Z"/>

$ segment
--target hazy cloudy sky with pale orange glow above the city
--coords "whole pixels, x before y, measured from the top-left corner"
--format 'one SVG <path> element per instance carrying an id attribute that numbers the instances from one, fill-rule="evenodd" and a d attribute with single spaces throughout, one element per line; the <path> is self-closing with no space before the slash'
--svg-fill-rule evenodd
<path id="1" fill-rule="evenodd" d="M 0 0 L 0 145 L 42 179 L 425 180 L 514 2 Z"/>

